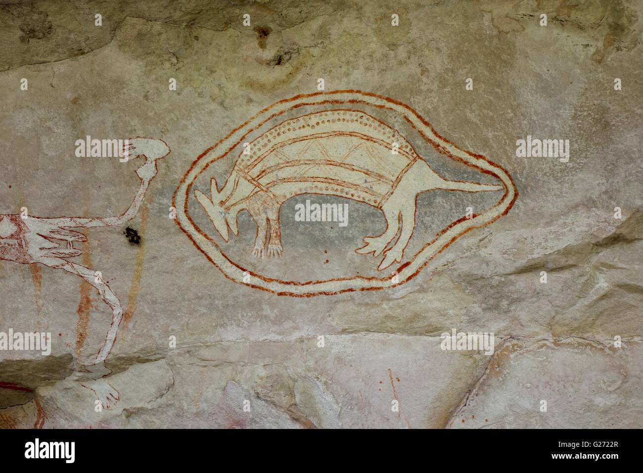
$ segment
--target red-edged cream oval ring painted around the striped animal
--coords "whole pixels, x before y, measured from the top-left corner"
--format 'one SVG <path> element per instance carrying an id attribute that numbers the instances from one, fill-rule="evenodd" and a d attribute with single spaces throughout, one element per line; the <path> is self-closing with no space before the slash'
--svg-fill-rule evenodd
<path id="1" fill-rule="evenodd" d="M 366 97 L 375 97 L 375 98 L 379 98 L 381 100 L 385 100 L 386 102 L 390 102 L 392 104 L 395 104 L 397 106 L 403 107 L 404 109 L 407 109 L 410 113 L 412 113 L 415 116 L 415 118 L 420 120 L 420 122 L 423 125 L 428 127 L 431 130 L 431 132 L 433 134 L 435 134 L 435 136 L 437 136 L 437 138 L 440 138 L 440 140 L 443 140 L 444 142 L 452 145 L 453 147 L 455 147 L 456 149 L 462 151 L 463 153 L 469 154 L 469 156 L 471 156 L 472 158 L 484 160 L 485 162 L 489 163 L 493 167 L 497 167 L 497 168 L 501 169 L 503 172 L 505 172 L 505 174 L 507 174 L 507 177 L 509 178 L 509 181 L 511 181 L 511 184 L 512 184 L 512 187 L 513 187 L 513 190 L 514 190 L 514 198 L 511 200 L 511 202 L 509 202 L 509 205 L 507 205 L 507 209 L 505 209 L 502 212 L 502 214 L 499 214 L 498 216 L 496 216 L 493 219 L 483 223 L 482 225 L 477 225 L 477 226 L 466 228 L 466 230 L 463 230 L 462 232 L 457 234 L 457 236 L 455 236 L 451 240 L 449 240 L 444 246 L 442 246 L 442 248 L 437 250 L 437 252 L 435 252 L 435 254 L 431 255 L 428 259 L 426 259 L 426 261 L 424 261 L 424 263 L 422 263 L 422 265 L 413 274 L 411 274 L 408 277 L 406 277 L 406 279 L 404 279 L 404 281 L 399 281 L 397 284 L 392 284 L 390 286 L 370 287 L 370 288 L 345 288 L 345 289 L 342 289 L 342 290 L 332 291 L 332 292 L 331 291 L 320 291 L 320 292 L 303 293 L 303 294 L 285 292 L 285 291 L 277 292 L 277 291 L 271 290 L 269 288 L 264 288 L 262 286 L 257 286 L 255 284 L 242 283 L 242 282 L 237 281 L 236 279 L 228 276 L 228 274 L 226 274 L 226 272 L 224 272 L 221 268 L 219 268 L 219 266 L 217 266 L 217 264 L 214 261 L 212 261 L 212 258 L 210 258 L 210 255 L 208 255 L 203 250 L 203 248 L 201 248 L 201 246 L 197 245 L 197 243 L 194 241 L 194 239 L 192 239 L 192 236 L 190 236 L 190 234 L 185 230 L 185 228 L 181 227 L 181 223 L 179 222 L 178 219 L 176 219 L 177 225 L 179 225 L 179 228 L 181 228 L 181 231 L 186 234 L 186 236 L 190 239 L 190 241 L 192 241 L 192 244 L 194 246 L 196 246 L 197 249 L 201 253 L 203 253 L 205 255 L 205 257 L 208 259 L 208 261 L 210 261 L 210 263 L 212 263 L 219 271 L 221 271 L 221 273 L 227 279 L 230 279 L 230 281 L 233 281 L 233 282 L 235 282 L 237 284 L 243 284 L 244 286 L 249 286 L 251 288 L 260 289 L 260 290 L 270 292 L 270 293 L 275 293 L 276 295 L 288 295 L 288 296 L 291 296 L 291 297 L 314 297 L 314 296 L 317 296 L 317 295 L 337 295 L 337 294 L 340 294 L 340 293 L 343 293 L 343 292 L 356 292 L 358 290 L 359 291 L 374 291 L 374 290 L 383 290 L 383 289 L 387 289 L 387 288 L 392 288 L 392 287 L 399 286 L 401 284 L 407 283 L 408 281 L 413 279 L 413 277 L 417 276 L 424 269 L 424 266 L 426 266 L 433 258 L 435 258 L 435 256 L 439 255 L 440 253 L 442 253 L 442 251 L 444 251 L 446 248 L 451 246 L 451 244 L 453 244 L 453 242 L 456 241 L 462 235 L 466 234 L 467 232 L 470 232 L 471 230 L 475 230 L 476 228 L 482 228 L 482 227 L 485 227 L 486 225 L 490 225 L 491 223 L 494 223 L 494 221 L 498 220 L 500 217 L 507 215 L 507 213 L 509 213 L 509 210 L 511 210 L 511 208 L 514 205 L 514 203 L 516 202 L 516 199 L 518 199 L 518 189 L 516 189 L 516 183 L 514 182 L 513 178 L 511 177 L 511 174 L 509 174 L 507 169 L 505 169 L 504 167 L 502 167 L 501 165 L 499 165 L 497 163 L 492 162 L 491 160 L 488 160 L 482 154 L 471 153 L 470 151 L 467 151 L 466 149 L 462 149 L 462 148 L 458 147 L 453 142 L 450 142 L 449 140 L 444 138 L 444 136 L 442 136 L 439 133 L 437 133 L 437 131 L 435 131 L 435 129 L 431 126 L 431 124 L 429 122 L 427 122 L 426 120 L 424 120 L 424 118 L 421 115 L 419 115 L 419 113 L 417 113 L 414 109 L 412 109 L 410 106 L 404 104 L 403 102 L 399 102 L 399 100 L 395 100 L 394 98 L 390 98 L 390 97 L 385 97 L 383 95 L 377 95 L 375 93 L 370 93 L 370 92 L 363 92 L 363 91 L 356 90 L 356 89 L 347 89 L 347 90 L 337 90 L 337 91 L 329 91 L 329 92 L 316 92 L 316 93 L 311 93 L 311 94 L 300 94 L 300 95 L 295 95 L 294 97 L 291 97 L 291 98 L 284 98 L 282 100 L 279 100 L 278 102 L 275 102 L 274 104 L 271 104 L 270 106 L 267 106 L 266 108 L 264 108 L 261 111 L 259 111 L 257 114 L 251 116 L 251 118 L 246 120 L 246 122 L 244 122 L 243 124 L 239 125 L 235 129 L 230 131 L 230 133 L 228 133 L 224 138 L 221 138 L 221 140 L 219 140 L 216 144 L 212 145 L 211 147 L 209 147 L 208 149 L 203 151 L 203 153 L 199 154 L 199 156 L 197 156 L 197 158 L 194 160 L 194 162 L 192 162 L 192 165 L 190 165 L 188 171 L 186 171 L 186 173 L 184 174 L 183 178 L 181 178 L 181 181 L 179 181 L 179 185 L 177 185 L 176 190 L 174 190 L 174 194 L 172 195 L 172 206 L 176 207 L 176 203 L 175 203 L 176 194 L 177 194 L 178 190 L 181 188 L 181 185 L 183 183 L 185 183 L 188 175 L 190 174 L 192 169 L 194 169 L 194 167 L 197 165 L 197 163 L 202 158 L 204 158 L 204 156 L 206 156 L 206 154 L 210 153 L 210 151 L 215 149 L 215 147 L 217 147 L 219 144 L 221 144 L 222 142 L 224 142 L 225 140 L 230 138 L 230 136 L 232 136 L 234 133 L 236 133 L 240 129 L 246 127 L 252 120 L 257 118 L 257 116 L 262 115 L 263 113 L 266 113 L 267 111 L 269 111 L 271 108 L 277 106 L 278 104 L 284 104 L 284 103 L 287 103 L 287 102 L 292 102 L 293 100 L 298 100 L 299 98 L 318 97 L 319 95 L 334 95 L 334 94 L 340 94 L 340 93 L 356 93 L 356 94 L 359 94 L 359 95 L 364 95 Z M 390 277 L 378 278 L 378 277 L 353 276 L 353 277 L 325 279 L 323 281 L 307 281 L 305 283 L 300 283 L 299 281 L 282 281 L 281 279 L 265 277 L 265 276 L 262 276 L 260 274 L 255 273 L 255 272 L 251 272 L 249 270 L 246 270 L 245 268 L 243 268 L 242 266 L 239 266 L 239 264 L 235 263 L 230 258 L 228 258 L 228 256 L 221 251 L 221 248 L 219 248 L 219 245 L 217 245 L 217 243 L 210 236 L 205 234 L 203 232 L 203 230 L 201 230 L 201 228 L 199 228 L 199 226 L 194 223 L 194 221 L 192 220 L 192 217 L 190 217 L 190 214 L 188 214 L 188 201 L 189 201 L 189 196 L 190 196 L 190 190 L 192 189 L 192 184 L 194 184 L 194 181 L 197 180 L 197 178 L 199 178 L 199 176 L 201 176 L 201 174 L 210 166 L 211 163 L 213 163 L 215 161 L 218 161 L 218 160 L 221 160 L 222 158 L 227 156 L 228 153 L 230 153 L 230 151 L 235 149 L 244 140 L 244 138 L 246 136 L 248 136 L 249 133 L 255 131 L 255 129 L 258 129 L 259 127 L 261 127 L 262 125 L 266 124 L 266 122 L 268 122 L 269 120 L 272 120 L 276 116 L 283 115 L 287 111 L 291 111 L 291 110 L 297 109 L 299 107 L 305 107 L 305 106 L 311 106 L 311 105 L 312 106 L 321 106 L 321 105 L 325 105 L 325 104 L 365 104 L 365 105 L 368 105 L 370 107 L 377 107 L 377 108 L 380 108 L 380 109 L 388 109 L 390 111 L 395 111 L 394 109 L 392 109 L 390 107 L 386 107 L 386 106 L 379 105 L 379 104 L 372 104 L 370 102 L 366 102 L 365 100 L 358 100 L 358 99 L 324 100 L 323 102 L 312 102 L 312 103 L 302 102 L 301 104 L 296 104 L 296 105 L 294 105 L 293 107 L 291 107 L 291 108 L 289 108 L 287 110 L 280 111 L 279 113 L 273 113 L 272 115 L 268 116 L 266 118 L 266 120 L 264 120 L 260 124 L 258 124 L 256 127 L 248 129 L 246 134 L 244 134 L 239 139 L 239 141 L 237 143 L 232 145 L 230 147 L 230 149 L 228 149 L 228 151 L 226 151 L 225 153 L 221 154 L 221 156 L 217 156 L 217 158 L 214 158 L 213 160 L 208 162 L 206 165 L 204 165 L 203 169 L 201 169 L 201 171 L 199 171 L 199 173 L 196 176 L 194 176 L 194 179 L 192 180 L 192 182 L 190 182 L 188 184 L 188 187 L 186 189 L 186 199 L 185 199 L 185 205 L 184 205 L 183 211 L 185 212 L 185 216 L 188 218 L 190 223 L 192 223 L 192 226 L 195 228 L 195 230 L 197 230 L 197 232 L 199 232 L 199 234 L 201 234 L 201 236 L 203 236 L 205 239 L 210 241 L 210 243 L 212 243 L 215 246 L 215 248 L 217 248 L 219 253 L 221 253 L 221 255 L 230 262 L 230 264 L 232 264 L 233 266 L 236 266 L 242 272 L 248 272 L 249 275 L 252 275 L 253 277 L 257 277 L 258 279 L 261 279 L 262 281 L 266 281 L 267 283 L 276 282 L 276 283 L 287 284 L 287 285 L 291 285 L 291 286 L 307 286 L 309 284 L 322 284 L 322 283 L 329 283 L 331 281 L 352 281 L 354 279 L 361 279 L 363 281 L 382 281 L 382 282 L 383 281 L 388 281 L 390 279 Z M 415 131 L 417 131 L 417 133 L 420 134 L 420 136 L 422 136 L 422 138 L 424 138 L 424 140 L 426 142 L 429 142 L 433 146 L 433 148 L 435 148 L 435 150 L 438 153 L 443 154 L 444 156 L 448 156 L 449 158 L 451 158 L 454 161 L 457 161 L 457 162 L 463 163 L 463 164 L 465 164 L 465 165 L 467 165 L 469 167 L 473 167 L 475 169 L 478 169 L 478 171 L 482 172 L 483 174 L 489 174 L 489 175 L 493 176 L 494 178 L 498 179 L 499 181 L 501 181 L 503 183 L 503 186 L 505 187 L 505 193 L 503 194 L 502 198 L 500 198 L 500 200 L 498 200 L 498 202 L 495 205 L 493 205 L 492 207 L 489 207 L 489 209 L 486 209 L 486 210 L 491 210 L 491 209 L 494 209 L 495 207 L 498 207 L 498 205 L 500 205 L 500 203 L 503 203 L 505 198 L 507 198 L 507 195 L 509 194 L 509 189 L 507 189 L 507 185 L 505 185 L 504 181 L 502 180 L 502 178 L 500 178 L 500 176 L 498 176 L 498 174 L 496 174 L 493 171 L 489 171 L 487 169 L 482 169 L 481 167 L 478 167 L 475 164 L 468 163 L 465 160 L 463 160 L 462 158 L 458 158 L 457 156 L 453 156 L 453 154 L 449 153 L 449 151 L 444 149 L 444 147 L 441 144 L 431 140 L 430 138 L 428 138 L 428 136 L 426 136 L 424 133 L 422 133 L 421 130 L 417 129 L 417 127 L 415 127 L 415 125 L 413 125 L 413 123 L 406 116 L 404 116 L 404 120 L 406 120 L 406 122 L 408 122 L 408 124 L 410 124 L 411 127 L 413 129 L 415 129 Z M 478 217 L 480 215 L 481 214 L 475 214 L 472 218 L 476 218 L 476 217 Z M 435 236 L 434 239 L 432 239 L 429 243 L 426 243 L 426 245 L 422 246 L 422 248 L 418 252 L 416 252 L 415 255 L 413 255 L 413 257 L 411 259 L 409 259 L 409 261 L 406 261 L 406 263 L 401 264 L 401 266 L 399 266 L 397 268 L 396 272 L 397 273 L 401 272 L 401 270 L 403 270 L 406 266 L 411 264 L 412 261 L 415 261 L 415 258 L 422 251 L 424 251 L 425 248 L 427 248 L 428 246 L 430 246 L 433 243 L 435 243 L 435 241 L 437 241 L 437 239 L 439 239 L 439 237 L 442 234 L 446 233 L 449 229 L 455 227 L 455 225 L 458 225 L 458 223 L 461 223 L 462 221 L 465 221 L 465 220 L 467 220 L 466 217 L 459 218 L 459 219 L 451 222 L 451 224 L 449 224 L 447 227 L 445 227 L 442 230 L 440 230 L 440 232 Z"/>

